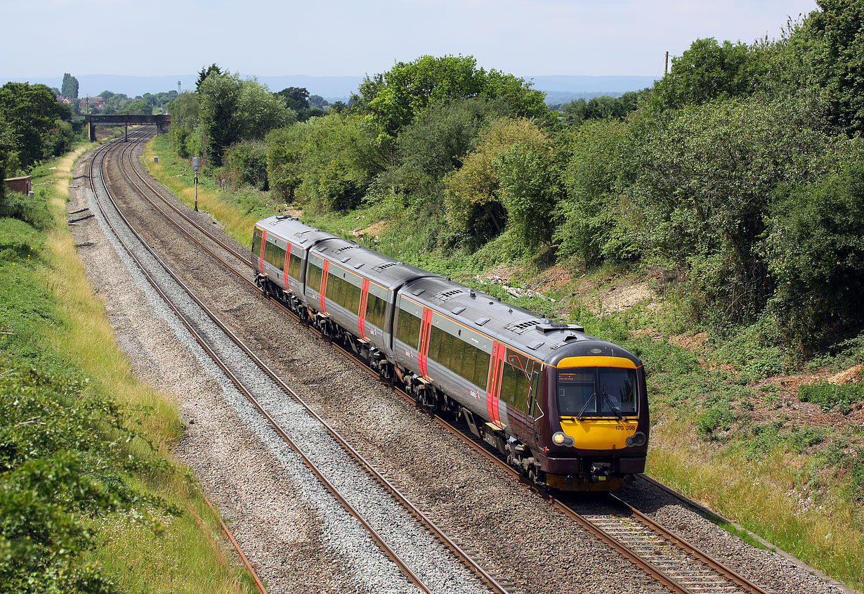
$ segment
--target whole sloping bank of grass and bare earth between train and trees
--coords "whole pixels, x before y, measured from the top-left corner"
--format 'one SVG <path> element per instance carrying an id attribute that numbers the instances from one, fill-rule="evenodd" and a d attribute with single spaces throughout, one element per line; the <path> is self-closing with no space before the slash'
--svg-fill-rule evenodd
<path id="1" fill-rule="evenodd" d="M 151 143 L 143 161 L 191 203 L 191 168 L 170 153 L 167 138 Z M 288 209 L 267 193 L 228 192 L 206 177 L 199 205 L 245 243 L 251 222 Z M 768 323 L 734 332 L 689 329 L 675 279 L 662 270 L 583 273 L 575 262 L 550 268 L 536 260 L 507 260 L 494 244 L 470 258 L 448 259 L 414 249 L 422 229 L 400 216 L 398 205 L 385 201 L 347 214 L 308 213 L 304 220 L 527 309 L 581 323 L 638 354 L 648 369 L 652 401 L 648 474 L 861 589 L 860 345 L 790 361 L 767 340 Z"/>

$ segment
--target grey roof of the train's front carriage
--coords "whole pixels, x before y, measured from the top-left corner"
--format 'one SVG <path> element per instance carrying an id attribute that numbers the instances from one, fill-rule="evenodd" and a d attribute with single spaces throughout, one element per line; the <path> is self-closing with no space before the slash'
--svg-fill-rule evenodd
<path id="1" fill-rule="evenodd" d="M 589 335 L 581 326 L 553 322 L 447 278 L 419 278 L 401 294 L 550 365 L 566 357 L 597 355 L 626 357 L 641 365 L 625 348 Z"/>

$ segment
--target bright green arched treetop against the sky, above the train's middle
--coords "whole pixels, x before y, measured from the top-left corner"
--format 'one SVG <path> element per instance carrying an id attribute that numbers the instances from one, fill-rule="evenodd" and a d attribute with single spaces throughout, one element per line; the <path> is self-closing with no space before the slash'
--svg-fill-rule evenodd
<path id="1" fill-rule="evenodd" d="M 429 105 L 473 97 L 501 98 L 518 115 L 550 121 L 543 93 L 512 74 L 477 68 L 471 56 L 424 55 L 397 62 L 386 73 L 366 76 L 354 99 L 377 131 L 378 143 L 392 146 L 398 132 Z"/>

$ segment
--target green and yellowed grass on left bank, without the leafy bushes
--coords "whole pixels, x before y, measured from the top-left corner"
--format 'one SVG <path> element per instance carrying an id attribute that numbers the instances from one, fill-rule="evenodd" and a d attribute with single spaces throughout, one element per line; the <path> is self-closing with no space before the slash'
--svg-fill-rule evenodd
<path id="1" fill-rule="evenodd" d="M 113 339 L 105 308 L 93 294 L 66 225 L 68 183 L 73 163 L 93 145 L 79 146 L 34 172 L 38 199 L 53 220 L 47 230 L 22 220 L 0 219 L 0 297 L 6 356 L 50 371 L 85 374 L 92 389 L 110 393 L 131 413 L 158 456 L 172 458 L 182 424 L 171 397 L 139 383 Z M 141 440 L 130 451 L 154 457 Z M 153 515 L 148 508 L 96 518 L 101 543 L 83 562 L 98 562 L 104 574 L 130 592 L 253 591 L 251 578 L 226 564 L 218 520 L 184 474 L 153 471 L 132 478 L 142 493 L 161 496 L 187 510 L 179 517 Z M 164 526 L 164 530 L 154 527 Z"/>

